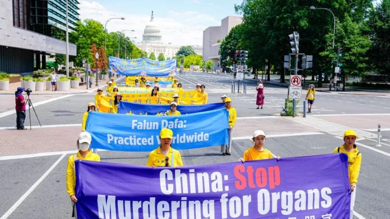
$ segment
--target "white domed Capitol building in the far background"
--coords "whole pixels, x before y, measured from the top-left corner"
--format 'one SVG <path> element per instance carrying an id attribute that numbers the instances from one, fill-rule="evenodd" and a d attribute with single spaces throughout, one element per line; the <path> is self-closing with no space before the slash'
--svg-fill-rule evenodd
<path id="1" fill-rule="evenodd" d="M 163 44 L 161 42 L 162 35 L 160 28 L 158 27 L 158 24 L 154 21 L 154 19 L 155 17 L 153 16 L 152 11 L 150 22 L 146 25 L 144 29 L 144 34 L 142 34 L 142 42 L 135 43 L 135 46 L 139 49 L 146 51 L 148 53 L 148 56 L 152 52 L 154 52 L 157 58 L 158 55 L 162 52 L 162 54 L 164 54 L 165 60 L 168 58 L 172 59 L 172 57 L 176 56 L 176 53 L 182 46 L 172 45 L 172 43 Z M 196 54 L 202 55 L 202 46 L 192 46 L 192 48 L 194 49 Z"/>

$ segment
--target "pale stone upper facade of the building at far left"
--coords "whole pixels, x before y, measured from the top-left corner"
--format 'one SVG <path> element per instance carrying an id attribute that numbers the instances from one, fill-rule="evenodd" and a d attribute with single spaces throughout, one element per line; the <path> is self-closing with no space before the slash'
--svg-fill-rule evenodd
<path id="1" fill-rule="evenodd" d="M 66 53 L 66 42 L 13 26 L 12 0 L 0 0 L 0 45 L 51 53 Z M 75 44 L 69 54 L 77 55 Z"/>

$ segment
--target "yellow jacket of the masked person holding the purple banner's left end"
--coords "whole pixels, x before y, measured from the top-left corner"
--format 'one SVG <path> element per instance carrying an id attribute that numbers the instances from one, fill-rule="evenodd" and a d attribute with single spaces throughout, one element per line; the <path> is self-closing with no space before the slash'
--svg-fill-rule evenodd
<path id="1" fill-rule="evenodd" d="M 100 156 L 96 153 L 92 153 L 89 150 L 87 156 L 84 158 L 80 155 L 80 152 L 77 152 L 78 160 L 89 160 L 89 161 L 100 161 Z M 69 196 L 75 195 L 75 186 L 76 186 L 76 173 L 75 173 L 75 155 L 72 154 L 68 158 L 68 166 L 66 169 L 66 190 L 68 191 Z"/>

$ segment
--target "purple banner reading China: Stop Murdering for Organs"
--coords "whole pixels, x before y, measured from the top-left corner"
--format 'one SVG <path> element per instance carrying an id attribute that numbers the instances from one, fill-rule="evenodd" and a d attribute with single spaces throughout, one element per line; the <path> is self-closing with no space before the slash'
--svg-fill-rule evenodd
<path id="1" fill-rule="evenodd" d="M 345 154 L 150 168 L 76 161 L 78 219 L 349 219 Z"/>

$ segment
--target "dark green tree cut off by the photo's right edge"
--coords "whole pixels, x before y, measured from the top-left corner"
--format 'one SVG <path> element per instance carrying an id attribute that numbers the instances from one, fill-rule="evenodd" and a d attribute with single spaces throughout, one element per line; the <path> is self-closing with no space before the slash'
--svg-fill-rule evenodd
<path id="1" fill-rule="evenodd" d="M 390 76 L 390 0 L 382 0 L 369 13 L 368 37 L 372 47 L 368 50 L 368 64 L 379 74 Z"/>

